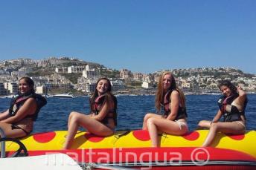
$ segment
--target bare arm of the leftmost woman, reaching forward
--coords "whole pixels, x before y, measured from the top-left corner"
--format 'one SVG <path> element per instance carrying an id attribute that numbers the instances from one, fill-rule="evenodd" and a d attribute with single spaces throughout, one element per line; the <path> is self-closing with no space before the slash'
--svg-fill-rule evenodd
<path id="1" fill-rule="evenodd" d="M 19 111 L 15 114 L 13 117 L 8 117 L 5 120 L 1 120 L 0 122 L 6 122 L 6 123 L 13 123 L 18 122 L 19 120 L 22 120 L 24 117 L 26 117 L 28 114 L 34 114 L 36 112 L 36 100 L 33 98 L 29 98 L 25 101 L 24 105 L 22 105 L 21 108 L 19 108 Z"/>

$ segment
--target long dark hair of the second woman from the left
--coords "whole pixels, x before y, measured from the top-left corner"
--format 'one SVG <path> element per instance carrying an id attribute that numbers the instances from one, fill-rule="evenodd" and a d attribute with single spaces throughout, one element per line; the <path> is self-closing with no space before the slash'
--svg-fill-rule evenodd
<path id="1" fill-rule="evenodd" d="M 96 82 L 96 85 L 95 85 L 95 91 L 93 92 L 92 97 L 90 97 L 90 101 L 89 101 L 89 102 L 90 102 L 91 111 L 92 111 L 92 108 L 93 108 L 93 103 L 95 102 L 95 99 L 98 97 L 98 93 L 97 93 L 97 84 L 98 84 L 98 83 L 100 82 L 100 80 L 102 80 L 102 79 L 106 80 L 106 82 L 108 83 L 108 88 L 106 89 L 106 93 L 104 94 L 104 95 L 105 95 L 105 99 L 104 99 L 104 102 L 103 102 L 103 103 L 107 102 L 107 104 L 108 104 L 108 106 L 109 106 L 109 103 L 110 103 L 110 101 L 112 100 L 113 95 L 112 95 L 112 93 L 111 93 L 112 89 L 111 89 L 111 82 L 110 82 L 110 80 L 107 79 L 106 77 L 103 77 L 103 78 L 98 79 L 97 82 Z"/>

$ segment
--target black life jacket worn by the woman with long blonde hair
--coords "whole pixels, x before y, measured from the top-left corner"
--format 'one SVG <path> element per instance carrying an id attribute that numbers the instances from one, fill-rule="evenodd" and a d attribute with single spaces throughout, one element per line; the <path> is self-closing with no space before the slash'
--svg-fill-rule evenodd
<path id="1" fill-rule="evenodd" d="M 164 101 L 161 102 L 161 106 L 162 106 L 163 109 L 164 109 L 164 117 L 168 117 L 168 115 L 170 114 L 170 102 L 171 102 L 171 101 L 170 101 L 170 94 L 171 94 L 173 91 L 176 91 L 176 89 L 167 91 L 167 93 L 164 95 Z M 179 92 L 179 91 L 178 91 L 178 92 Z M 163 104 L 163 103 L 164 103 L 164 104 Z M 179 105 L 178 113 L 177 113 L 177 115 L 176 115 L 176 117 L 175 117 L 174 120 L 185 119 L 186 117 L 188 117 L 186 108 L 182 108 L 182 107 Z"/>

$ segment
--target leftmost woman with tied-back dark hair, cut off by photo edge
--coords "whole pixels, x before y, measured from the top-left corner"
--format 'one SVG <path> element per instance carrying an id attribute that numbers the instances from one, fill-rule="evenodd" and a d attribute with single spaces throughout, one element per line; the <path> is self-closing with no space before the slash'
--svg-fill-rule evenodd
<path id="1" fill-rule="evenodd" d="M 10 102 L 10 108 L 0 114 L 0 128 L 6 137 L 25 137 L 33 130 L 40 108 L 46 99 L 35 94 L 33 80 L 19 79 L 19 93 Z"/>

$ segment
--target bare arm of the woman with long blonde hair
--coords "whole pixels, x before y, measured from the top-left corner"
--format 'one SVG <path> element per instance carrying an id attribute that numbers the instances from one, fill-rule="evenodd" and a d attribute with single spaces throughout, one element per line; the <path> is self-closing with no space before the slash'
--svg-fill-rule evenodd
<path id="1" fill-rule="evenodd" d="M 179 111 L 179 92 L 173 91 L 170 95 L 170 114 L 167 120 L 174 120 Z"/>

